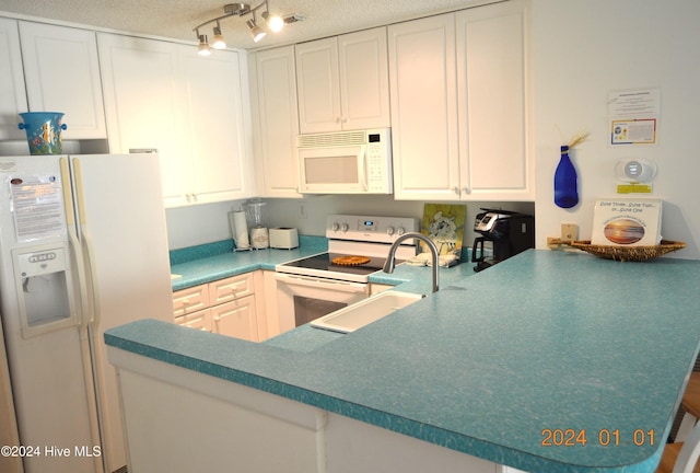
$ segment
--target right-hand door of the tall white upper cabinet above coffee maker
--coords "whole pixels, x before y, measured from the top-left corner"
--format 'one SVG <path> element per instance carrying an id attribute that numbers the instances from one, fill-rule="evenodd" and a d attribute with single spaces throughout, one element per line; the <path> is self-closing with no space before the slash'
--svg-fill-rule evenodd
<path id="1" fill-rule="evenodd" d="M 457 13 L 463 198 L 534 198 L 526 140 L 525 5 Z"/>

